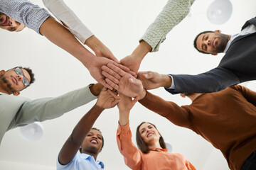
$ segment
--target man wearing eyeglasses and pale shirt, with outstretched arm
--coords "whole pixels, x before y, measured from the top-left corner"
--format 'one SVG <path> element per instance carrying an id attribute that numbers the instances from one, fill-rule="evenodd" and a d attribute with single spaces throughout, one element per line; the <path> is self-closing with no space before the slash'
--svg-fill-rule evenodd
<path id="1" fill-rule="evenodd" d="M 34 75 L 29 68 L 15 67 L 0 71 L 0 144 L 8 130 L 35 121 L 58 118 L 94 100 L 102 90 L 101 84 L 90 84 L 55 98 L 30 100 L 19 97 L 20 91 L 30 86 L 33 81 Z"/>

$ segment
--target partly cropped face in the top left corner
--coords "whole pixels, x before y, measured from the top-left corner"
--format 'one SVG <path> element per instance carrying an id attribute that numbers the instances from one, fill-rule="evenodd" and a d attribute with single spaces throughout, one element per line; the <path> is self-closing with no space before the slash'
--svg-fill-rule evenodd
<path id="1" fill-rule="evenodd" d="M 9 31 L 20 31 L 24 27 L 22 23 L 18 23 L 13 18 L 6 16 L 6 14 L 0 13 L 0 28 Z"/>

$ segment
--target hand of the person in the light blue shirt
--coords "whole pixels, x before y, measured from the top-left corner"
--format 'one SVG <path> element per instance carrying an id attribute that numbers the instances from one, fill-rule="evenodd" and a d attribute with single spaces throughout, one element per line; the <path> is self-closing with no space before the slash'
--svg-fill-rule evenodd
<path id="1" fill-rule="evenodd" d="M 113 108 L 119 102 L 117 91 L 110 91 L 107 88 L 103 88 L 100 92 L 100 96 L 97 99 L 97 106 L 102 108 Z"/>

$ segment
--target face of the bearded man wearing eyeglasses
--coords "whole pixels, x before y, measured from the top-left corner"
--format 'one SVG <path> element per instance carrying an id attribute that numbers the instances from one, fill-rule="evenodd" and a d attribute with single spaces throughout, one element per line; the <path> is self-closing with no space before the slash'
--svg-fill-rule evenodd
<path id="1" fill-rule="evenodd" d="M 7 72 L 4 70 L 1 70 L 0 75 L 0 86 L 1 89 L 4 89 L 9 94 L 16 95 L 17 92 L 23 90 L 26 88 L 26 86 L 23 84 L 23 77 L 26 77 L 28 81 L 31 81 L 31 77 L 26 71 L 26 69 L 21 69 L 24 76 L 21 74 L 17 74 L 15 72 L 15 69 L 10 69 Z M 19 94 L 19 93 L 18 93 Z"/>

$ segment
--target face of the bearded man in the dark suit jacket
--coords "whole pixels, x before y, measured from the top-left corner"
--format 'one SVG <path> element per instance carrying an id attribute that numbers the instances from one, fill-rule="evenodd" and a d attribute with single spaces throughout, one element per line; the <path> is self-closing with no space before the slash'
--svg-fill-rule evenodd
<path id="1" fill-rule="evenodd" d="M 201 52 L 216 55 L 225 50 L 228 40 L 228 35 L 221 34 L 218 30 L 215 30 L 214 33 L 203 33 L 199 35 L 196 40 L 196 47 Z"/>

